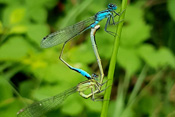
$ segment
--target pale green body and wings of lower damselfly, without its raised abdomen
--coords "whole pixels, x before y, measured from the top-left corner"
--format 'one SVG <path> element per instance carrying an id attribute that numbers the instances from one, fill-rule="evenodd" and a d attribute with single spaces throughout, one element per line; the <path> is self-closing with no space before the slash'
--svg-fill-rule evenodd
<path id="1" fill-rule="evenodd" d="M 95 94 L 101 93 L 104 90 L 100 90 L 99 86 L 103 84 L 99 84 L 94 78 L 83 81 L 79 83 L 77 86 L 70 88 L 62 93 L 59 93 L 53 97 L 41 100 L 39 102 L 35 102 L 26 108 L 21 109 L 17 113 L 17 117 L 40 117 L 47 112 L 58 107 L 69 95 L 79 92 L 80 96 L 84 98 L 90 98 L 94 101 Z M 86 94 L 85 91 L 90 90 L 89 94 Z"/>

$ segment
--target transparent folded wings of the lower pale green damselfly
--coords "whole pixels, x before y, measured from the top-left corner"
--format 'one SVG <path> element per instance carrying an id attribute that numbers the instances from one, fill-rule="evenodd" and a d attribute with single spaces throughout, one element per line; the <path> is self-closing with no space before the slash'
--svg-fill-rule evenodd
<path id="1" fill-rule="evenodd" d="M 56 96 L 33 103 L 28 107 L 21 109 L 17 113 L 17 117 L 40 117 L 45 113 L 47 113 L 48 111 L 59 106 L 59 104 L 61 104 L 65 100 L 65 98 L 75 93 L 76 91 L 77 87 L 73 87 Z"/>

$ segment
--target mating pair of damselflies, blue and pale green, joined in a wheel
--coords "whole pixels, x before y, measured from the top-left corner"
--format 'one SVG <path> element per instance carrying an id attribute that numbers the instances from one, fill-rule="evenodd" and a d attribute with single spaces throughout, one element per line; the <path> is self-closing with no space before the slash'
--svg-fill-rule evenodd
<path id="1" fill-rule="evenodd" d="M 113 36 L 115 36 L 116 34 L 114 32 L 108 31 L 107 30 L 107 26 L 108 24 L 117 24 L 116 22 L 114 22 L 114 17 L 119 15 L 118 13 L 116 13 L 114 10 L 117 9 L 117 6 L 114 4 L 109 4 L 108 5 L 108 9 L 100 11 L 98 13 L 95 14 L 95 16 L 92 16 L 84 21 L 78 22 L 72 26 L 66 27 L 64 29 L 61 29 L 57 32 L 54 32 L 46 37 L 43 38 L 43 40 L 41 41 L 41 47 L 42 48 L 49 48 L 61 43 L 64 43 L 61 54 L 60 54 L 60 60 L 65 63 L 70 69 L 79 72 L 80 74 L 82 74 L 83 76 L 85 76 L 86 78 L 88 78 L 88 80 L 79 83 L 76 87 L 68 89 L 66 91 L 64 91 L 63 93 L 60 93 L 56 96 L 44 99 L 42 101 L 36 102 L 32 105 L 29 105 L 28 107 L 21 109 L 18 112 L 18 116 L 20 117 L 38 117 L 41 116 L 43 114 L 45 114 L 46 112 L 48 112 L 49 110 L 55 108 L 57 105 L 59 105 L 61 102 L 64 101 L 64 99 L 71 95 L 72 93 L 78 91 L 80 96 L 84 97 L 84 98 L 89 98 L 91 97 L 92 100 L 94 100 L 94 95 L 97 93 L 102 92 L 103 90 L 101 90 L 101 87 L 103 85 L 103 70 L 102 70 L 102 66 L 101 66 L 101 62 L 98 62 L 99 67 L 100 67 L 100 71 L 101 71 L 101 78 L 100 78 L 100 82 L 98 82 L 98 80 L 96 80 L 96 76 L 94 75 L 89 75 L 86 71 L 78 69 L 78 68 L 74 68 L 71 65 L 69 65 L 68 63 L 66 63 L 62 58 L 62 53 L 63 53 L 63 49 L 65 44 L 72 38 L 74 38 L 75 36 L 83 33 L 84 31 L 88 30 L 88 29 L 93 29 L 97 26 L 97 24 L 107 18 L 107 22 L 105 25 L 105 31 Z M 111 23 L 112 20 L 112 23 Z M 95 32 L 95 31 L 94 31 Z M 94 53 L 96 55 L 97 61 L 100 61 L 100 57 L 98 55 L 98 51 L 96 48 L 96 44 L 94 41 L 94 36 L 95 33 L 93 31 L 91 31 L 91 40 L 92 40 L 92 45 L 94 47 Z M 86 91 L 87 89 L 91 89 L 91 93 L 89 94 L 85 94 L 84 91 Z"/>

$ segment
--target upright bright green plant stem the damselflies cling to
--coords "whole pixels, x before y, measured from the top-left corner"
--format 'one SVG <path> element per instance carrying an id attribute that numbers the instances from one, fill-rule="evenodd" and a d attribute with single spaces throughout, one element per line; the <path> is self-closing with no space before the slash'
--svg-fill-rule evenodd
<path id="1" fill-rule="evenodd" d="M 119 21 L 122 21 L 125 17 L 127 2 L 128 2 L 128 0 L 122 0 L 121 11 L 124 11 L 124 12 L 119 17 Z M 116 30 L 117 36 L 115 37 L 114 48 L 113 48 L 111 61 L 110 61 L 110 65 L 109 65 L 108 82 L 107 82 L 108 88 L 106 89 L 105 95 L 104 95 L 105 101 L 103 101 L 101 117 L 107 117 L 107 113 L 108 113 L 108 106 L 109 106 L 109 100 L 110 100 L 111 89 L 112 89 L 111 86 L 113 84 L 113 76 L 114 76 L 115 64 L 117 61 L 117 53 L 118 53 L 119 44 L 120 44 L 120 36 L 121 36 L 121 32 L 122 32 L 122 27 L 123 27 L 123 22 L 118 24 L 118 27 Z"/>

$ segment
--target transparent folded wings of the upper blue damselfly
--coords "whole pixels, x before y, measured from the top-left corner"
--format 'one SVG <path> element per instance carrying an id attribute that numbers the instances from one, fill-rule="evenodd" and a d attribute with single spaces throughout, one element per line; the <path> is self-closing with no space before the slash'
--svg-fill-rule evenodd
<path id="1" fill-rule="evenodd" d="M 92 16 L 86 20 L 80 21 L 72 26 L 68 26 L 61 30 L 58 30 L 50 35 L 47 35 L 41 41 L 42 48 L 49 48 L 63 42 L 66 42 L 73 37 L 79 35 L 80 33 L 84 32 L 85 30 L 89 29 L 90 25 L 95 21 L 95 16 Z"/>

